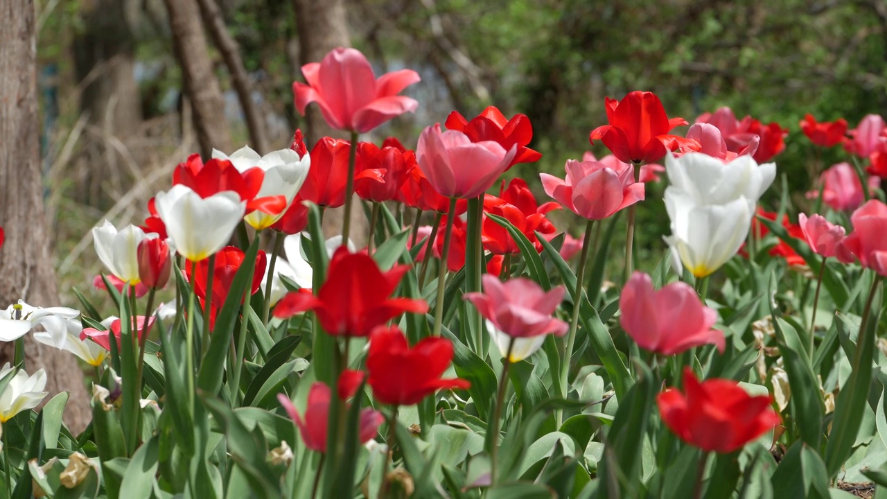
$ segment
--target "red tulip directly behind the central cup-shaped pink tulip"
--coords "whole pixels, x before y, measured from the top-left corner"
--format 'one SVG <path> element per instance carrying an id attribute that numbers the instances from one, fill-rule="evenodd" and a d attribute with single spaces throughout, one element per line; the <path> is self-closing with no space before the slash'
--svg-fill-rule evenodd
<path id="1" fill-rule="evenodd" d="M 506 151 L 516 146 L 517 152 L 508 168 L 519 162 L 538 162 L 542 157 L 542 154 L 526 147 L 533 139 L 533 126 L 527 115 L 514 115 L 508 120 L 498 108 L 491 106 L 472 118 L 470 122 L 459 112 L 453 111 L 447 116 L 444 125 L 448 130 L 465 133 L 472 142 L 492 140 Z"/>

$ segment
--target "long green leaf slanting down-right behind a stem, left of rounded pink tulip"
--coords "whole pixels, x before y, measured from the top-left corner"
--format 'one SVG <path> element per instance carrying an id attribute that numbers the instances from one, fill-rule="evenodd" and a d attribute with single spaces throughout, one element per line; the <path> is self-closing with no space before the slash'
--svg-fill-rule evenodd
<path id="1" fill-rule="evenodd" d="M 548 257 L 551 258 L 554 266 L 561 273 L 561 281 L 567 287 L 567 294 L 576 303 L 576 297 L 573 297 L 576 291 L 576 274 L 570 270 L 567 262 L 563 260 L 551 243 L 544 238 L 539 238 L 539 242 L 542 243 Z M 597 311 L 588 303 L 588 300 L 579 299 L 578 301 L 581 306 L 579 318 L 582 320 L 583 329 L 587 331 L 588 339 L 591 341 L 594 352 L 598 354 L 604 368 L 607 369 L 610 383 L 613 384 L 613 389 L 616 390 L 616 397 L 621 397 L 628 386 L 632 384 L 632 374 L 625 367 L 619 352 L 616 351 L 613 337 L 610 337 L 609 331 L 603 325 L 603 322 L 600 321 Z"/>

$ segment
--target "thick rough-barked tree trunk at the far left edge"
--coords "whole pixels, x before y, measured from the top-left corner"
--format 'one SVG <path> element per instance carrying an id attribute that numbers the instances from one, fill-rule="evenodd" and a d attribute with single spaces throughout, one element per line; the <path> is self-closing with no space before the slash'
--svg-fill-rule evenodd
<path id="1" fill-rule="evenodd" d="M 35 11 L 33 0 L 0 0 L 0 306 L 19 298 L 30 305 L 59 305 L 53 258 L 43 213 L 40 122 L 37 115 Z M 12 360 L 12 344 L 0 344 L 0 363 Z M 26 336 L 25 367 L 46 369 L 49 400 L 70 392 L 65 422 L 80 432 L 90 420 L 89 397 L 74 355 Z"/>

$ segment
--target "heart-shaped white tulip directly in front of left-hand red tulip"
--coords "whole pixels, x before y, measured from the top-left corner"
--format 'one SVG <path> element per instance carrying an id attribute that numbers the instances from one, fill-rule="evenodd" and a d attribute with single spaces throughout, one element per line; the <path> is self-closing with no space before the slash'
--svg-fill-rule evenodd
<path id="1" fill-rule="evenodd" d="M 201 198 L 186 186 L 172 186 L 155 197 L 157 213 L 180 255 L 199 262 L 222 249 L 246 210 L 238 194 L 224 191 Z"/>

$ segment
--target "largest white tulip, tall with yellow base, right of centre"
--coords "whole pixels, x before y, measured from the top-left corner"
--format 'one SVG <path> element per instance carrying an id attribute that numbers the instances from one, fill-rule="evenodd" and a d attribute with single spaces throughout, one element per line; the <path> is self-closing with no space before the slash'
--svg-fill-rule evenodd
<path id="1" fill-rule="evenodd" d="M 773 183 L 776 166 L 758 165 L 747 155 L 724 163 L 688 153 L 667 156 L 665 170 L 671 179 L 665 189 L 671 236 L 665 242 L 674 265 L 679 273 L 687 265 L 697 278 L 710 275 L 742 247 L 755 204 Z"/>

